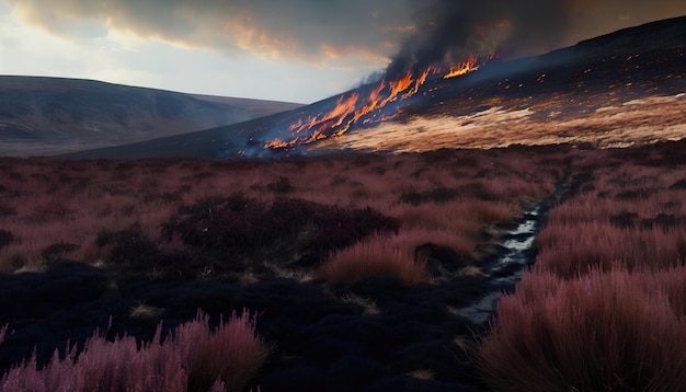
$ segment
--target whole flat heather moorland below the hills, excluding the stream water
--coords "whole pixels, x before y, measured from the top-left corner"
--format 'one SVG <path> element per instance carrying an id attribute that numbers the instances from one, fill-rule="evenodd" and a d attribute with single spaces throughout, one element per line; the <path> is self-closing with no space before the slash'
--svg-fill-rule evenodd
<path id="1" fill-rule="evenodd" d="M 1 389 L 684 390 L 684 147 L 2 158 Z"/>

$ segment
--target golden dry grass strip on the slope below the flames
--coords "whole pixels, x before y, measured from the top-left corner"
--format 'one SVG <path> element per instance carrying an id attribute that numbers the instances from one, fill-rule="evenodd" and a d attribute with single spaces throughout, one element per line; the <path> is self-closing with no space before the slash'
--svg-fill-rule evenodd
<path id="1" fill-rule="evenodd" d="M 561 94 L 562 99 L 564 94 Z M 547 101 L 554 101 L 554 96 Z M 418 117 L 388 122 L 364 132 L 329 138 L 318 148 L 421 152 L 437 148 L 491 149 L 511 145 L 592 143 L 627 147 L 654 140 L 681 140 L 686 129 L 686 97 L 649 96 L 627 103 L 605 102 L 592 113 L 535 116 L 546 107 L 512 109 L 492 106 L 462 116 Z M 564 111 L 569 102 L 558 103 Z M 583 129 L 583 131 L 579 131 Z"/>

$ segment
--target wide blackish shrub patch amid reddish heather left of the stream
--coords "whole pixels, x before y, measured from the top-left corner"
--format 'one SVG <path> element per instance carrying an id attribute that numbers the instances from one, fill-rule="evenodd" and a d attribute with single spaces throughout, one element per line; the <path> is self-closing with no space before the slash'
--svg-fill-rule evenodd
<path id="1" fill-rule="evenodd" d="M 371 208 L 340 208 L 295 198 L 277 198 L 270 205 L 233 195 L 182 207 L 162 230 L 168 239 L 179 233 L 185 244 L 220 258 L 265 252 L 287 258 L 286 247 L 293 254 L 323 257 L 374 232 L 398 227 L 396 219 Z"/>

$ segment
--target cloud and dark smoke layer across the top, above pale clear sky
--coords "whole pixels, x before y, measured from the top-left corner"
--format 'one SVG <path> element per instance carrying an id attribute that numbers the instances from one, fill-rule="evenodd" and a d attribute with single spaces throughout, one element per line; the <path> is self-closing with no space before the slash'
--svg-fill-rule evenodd
<path id="1" fill-rule="evenodd" d="M 686 14 L 671 0 L 5 0 L 68 37 L 128 32 L 188 48 L 389 71 L 550 50 Z"/>

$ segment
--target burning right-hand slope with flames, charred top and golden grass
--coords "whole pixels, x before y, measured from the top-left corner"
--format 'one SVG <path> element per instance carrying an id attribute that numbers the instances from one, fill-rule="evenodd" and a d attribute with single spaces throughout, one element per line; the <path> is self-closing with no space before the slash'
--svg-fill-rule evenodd
<path id="1" fill-rule="evenodd" d="M 331 106 L 308 107 L 263 147 L 426 151 L 679 139 L 686 130 L 683 22 L 656 22 L 518 60 L 468 56 L 455 66 L 413 71 L 427 64 L 415 60 L 400 73 L 390 71 L 397 60 L 386 79 L 342 94 Z"/>

